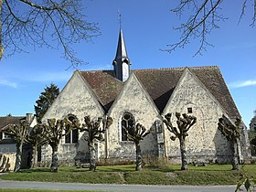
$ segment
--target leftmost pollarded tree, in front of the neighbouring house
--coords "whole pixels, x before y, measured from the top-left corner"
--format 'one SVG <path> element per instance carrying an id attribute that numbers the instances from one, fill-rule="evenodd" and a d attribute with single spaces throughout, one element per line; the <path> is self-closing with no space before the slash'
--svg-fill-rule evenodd
<path id="1" fill-rule="evenodd" d="M 10 124 L 5 129 L 5 133 L 16 141 L 16 165 L 14 171 L 17 172 L 20 170 L 23 144 L 27 143 L 29 123 L 26 120 L 21 120 L 18 124 Z"/>

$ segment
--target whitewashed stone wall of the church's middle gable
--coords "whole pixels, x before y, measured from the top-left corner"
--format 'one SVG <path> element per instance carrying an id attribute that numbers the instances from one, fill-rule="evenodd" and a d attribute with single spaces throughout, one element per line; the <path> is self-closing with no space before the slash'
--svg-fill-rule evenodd
<path id="1" fill-rule="evenodd" d="M 154 102 L 134 74 L 126 81 L 123 91 L 109 112 L 113 123 L 108 130 L 108 157 L 120 161 L 135 159 L 133 142 L 122 141 L 121 121 L 124 112 L 132 113 L 135 123 L 143 124 L 147 130 L 155 128 L 155 121 L 159 120 L 159 112 Z M 156 134 L 148 134 L 141 142 L 141 149 L 143 155 L 157 155 Z"/>

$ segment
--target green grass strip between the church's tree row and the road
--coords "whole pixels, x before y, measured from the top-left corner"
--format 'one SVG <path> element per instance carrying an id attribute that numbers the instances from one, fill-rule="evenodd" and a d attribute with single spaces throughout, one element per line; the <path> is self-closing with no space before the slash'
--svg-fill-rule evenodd
<path id="1" fill-rule="evenodd" d="M 240 178 L 240 172 L 231 171 L 231 165 L 189 165 L 188 171 L 180 171 L 180 165 L 145 167 L 141 172 L 134 168 L 135 165 L 98 166 L 96 172 L 90 172 L 83 168 L 59 167 L 58 173 L 37 168 L 9 173 L 0 179 L 92 184 L 236 185 Z M 256 165 L 245 165 L 244 170 L 248 176 L 256 176 Z"/>

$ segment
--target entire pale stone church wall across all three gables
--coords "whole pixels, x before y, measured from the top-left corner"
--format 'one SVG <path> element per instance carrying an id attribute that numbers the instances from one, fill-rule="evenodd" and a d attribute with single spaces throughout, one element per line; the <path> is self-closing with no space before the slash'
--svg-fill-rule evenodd
<path id="1" fill-rule="evenodd" d="M 172 121 L 176 126 L 175 112 L 187 113 L 188 108 L 192 110 L 191 114 L 197 117 L 197 123 L 188 132 L 186 138 L 188 161 L 229 162 L 231 157 L 229 144 L 218 130 L 219 117 L 227 114 L 205 86 L 197 80 L 197 77 L 186 69 L 163 115 L 172 112 Z M 134 74 L 125 82 L 123 90 L 113 102 L 108 113 L 113 123 L 104 135 L 105 141 L 95 146 L 98 160 L 108 163 L 135 160 L 133 142 L 122 141 L 121 122 L 124 112 L 133 114 L 135 123 L 143 124 L 147 130 L 154 130 L 154 133 L 147 135 L 141 142 L 144 156 L 165 155 L 170 162 L 180 163 L 179 142 L 170 140 L 171 133 L 162 124 L 162 118 L 154 101 L 144 91 L 144 87 Z M 79 72 L 74 73 L 45 114 L 43 121 L 46 122 L 48 118 L 63 119 L 69 114 L 76 115 L 80 123 L 83 123 L 86 115 L 96 119 L 104 114 L 91 87 L 87 85 Z M 87 133 L 79 133 L 78 144 L 65 144 L 65 138 L 62 138 L 59 144 L 59 165 L 75 165 L 76 161 L 81 163 L 89 161 L 86 136 Z M 240 146 L 244 148 L 244 144 L 246 143 L 242 142 Z M 240 154 L 244 153 L 240 152 Z M 41 165 L 49 165 L 50 162 L 51 148 L 49 145 L 43 146 Z"/>

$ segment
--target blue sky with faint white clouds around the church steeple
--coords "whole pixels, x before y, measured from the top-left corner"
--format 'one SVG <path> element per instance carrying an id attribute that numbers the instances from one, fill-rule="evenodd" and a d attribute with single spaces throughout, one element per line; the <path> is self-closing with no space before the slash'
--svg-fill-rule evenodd
<path id="1" fill-rule="evenodd" d="M 122 13 L 122 28 L 132 69 L 219 66 L 243 121 L 248 125 L 256 110 L 256 27 L 250 27 L 251 10 L 240 24 L 241 3 L 225 1 L 222 13 L 229 17 L 219 23 L 208 41 L 214 44 L 202 56 L 193 57 L 197 39 L 186 48 L 169 54 L 161 51 L 178 40 L 178 17 L 170 12 L 177 1 L 171 0 L 86 0 L 85 14 L 99 22 L 101 36 L 92 43 L 80 42 L 72 48 L 89 64 L 79 69 L 112 69 L 119 34 L 117 10 Z M 239 3 L 238 3 L 239 2 Z M 34 113 L 41 91 L 51 82 L 64 87 L 74 69 L 61 58 L 62 50 L 30 48 L 0 61 L 0 115 Z M 5 55 L 8 53 L 5 52 Z"/>

